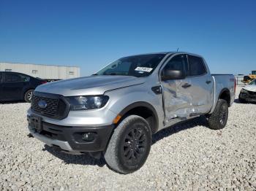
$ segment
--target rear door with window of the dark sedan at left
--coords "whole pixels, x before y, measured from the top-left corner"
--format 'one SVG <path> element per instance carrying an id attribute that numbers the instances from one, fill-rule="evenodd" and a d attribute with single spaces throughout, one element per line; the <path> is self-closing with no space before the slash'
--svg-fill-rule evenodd
<path id="1" fill-rule="evenodd" d="M 20 100 L 23 98 L 24 87 L 29 85 L 29 77 L 23 74 L 6 72 L 2 90 L 4 100 Z"/>

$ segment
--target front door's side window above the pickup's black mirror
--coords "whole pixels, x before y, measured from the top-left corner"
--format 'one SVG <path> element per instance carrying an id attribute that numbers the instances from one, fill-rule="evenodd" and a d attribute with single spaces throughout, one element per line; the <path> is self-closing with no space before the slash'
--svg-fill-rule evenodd
<path id="1" fill-rule="evenodd" d="M 186 55 L 176 55 L 168 63 L 165 65 L 163 71 L 171 69 L 171 70 L 182 70 L 184 71 L 184 67 L 187 65 Z"/>

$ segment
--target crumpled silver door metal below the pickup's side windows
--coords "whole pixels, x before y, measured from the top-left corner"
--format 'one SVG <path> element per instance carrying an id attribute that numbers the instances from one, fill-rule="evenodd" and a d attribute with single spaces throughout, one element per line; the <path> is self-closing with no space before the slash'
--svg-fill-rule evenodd
<path id="1" fill-rule="evenodd" d="M 184 88 L 185 84 L 189 84 L 191 87 Z M 165 122 L 177 117 L 185 120 L 211 109 L 212 92 L 204 88 L 201 82 L 194 82 L 191 79 L 170 80 L 162 82 L 162 88 Z"/>

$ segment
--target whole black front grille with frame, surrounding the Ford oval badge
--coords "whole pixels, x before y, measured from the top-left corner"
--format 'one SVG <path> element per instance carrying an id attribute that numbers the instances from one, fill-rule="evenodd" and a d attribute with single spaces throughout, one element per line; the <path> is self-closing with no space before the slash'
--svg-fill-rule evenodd
<path id="1" fill-rule="evenodd" d="M 47 106 L 40 107 L 39 101 L 45 101 Z M 61 95 L 34 92 L 31 109 L 37 114 L 61 120 L 67 117 L 69 104 Z"/>

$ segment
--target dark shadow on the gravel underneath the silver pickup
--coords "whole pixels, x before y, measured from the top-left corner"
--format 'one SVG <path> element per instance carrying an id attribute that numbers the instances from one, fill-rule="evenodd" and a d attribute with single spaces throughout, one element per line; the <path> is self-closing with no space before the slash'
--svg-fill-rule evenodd
<path id="1" fill-rule="evenodd" d="M 169 128 L 165 128 L 160 130 L 158 133 L 154 134 L 152 137 L 152 145 L 164 139 L 167 136 L 171 136 L 174 133 L 178 133 L 181 130 L 187 130 L 189 128 L 194 128 L 197 125 L 203 125 L 207 127 L 207 122 L 205 117 L 197 117 L 193 120 L 189 120 L 187 122 L 181 122 L 179 124 L 173 125 Z M 45 145 L 44 151 L 50 152 L 50 154 L 58 157 L 59 159 L 63 160 L 64 163 L 67 164 L 78 164 L 78 165 L 98 165 L 99 167 L 103 167 L 106 165 L 104 157 L 101 157 L 99 160 L 91 157 L 88 153 L 83 155 L 69 155 L 67 153 L 61 152 L 56 148 L 49 147 Z"/>

